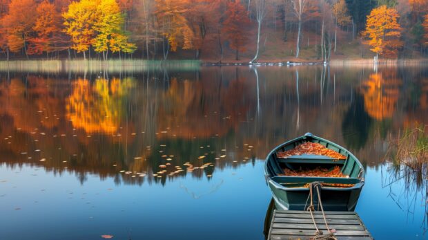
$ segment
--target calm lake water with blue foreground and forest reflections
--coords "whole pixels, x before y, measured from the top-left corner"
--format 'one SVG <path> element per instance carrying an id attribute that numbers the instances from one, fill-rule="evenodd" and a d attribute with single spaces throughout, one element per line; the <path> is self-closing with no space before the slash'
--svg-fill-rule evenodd
<path id="1" fill-rule="evenodd" d="M 264 158 L 306 132 L 367 171 L 376 239 L 427 239 L 427 178 L 384 162 L 428 123 L 428 68 L 1 73 L 0 239 L 264 239 Z M 111 237 L 104 236 L 104 237 Z"/>

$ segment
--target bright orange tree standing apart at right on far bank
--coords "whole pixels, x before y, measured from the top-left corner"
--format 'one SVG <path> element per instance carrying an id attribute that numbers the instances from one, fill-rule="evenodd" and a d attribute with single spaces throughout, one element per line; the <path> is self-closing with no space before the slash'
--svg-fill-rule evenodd
<path id="1" fill-rule="evenodd" d="M 397 10 L 380 6 L 371 11 L 367 17 L 367 26 L 363 35 L 369 37 L 368 44 L 376 56 L 396 57 L 398 48 L 403 46 Z"/>

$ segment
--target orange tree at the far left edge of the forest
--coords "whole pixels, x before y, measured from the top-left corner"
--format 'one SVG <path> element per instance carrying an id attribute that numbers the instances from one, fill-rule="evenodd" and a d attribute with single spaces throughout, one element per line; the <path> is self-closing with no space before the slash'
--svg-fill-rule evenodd
<path id="1" fill-rule="evenodd" d="M 35 8 L 35 0 L 12 0 L 8 14 L 2 19 L 3 26 L 6 26 L 8 49 L 17 53 L 23 48 L 27 58 L 27 43 L 32 37 L 36 15 L 25 14 L 23 10 Z"/>

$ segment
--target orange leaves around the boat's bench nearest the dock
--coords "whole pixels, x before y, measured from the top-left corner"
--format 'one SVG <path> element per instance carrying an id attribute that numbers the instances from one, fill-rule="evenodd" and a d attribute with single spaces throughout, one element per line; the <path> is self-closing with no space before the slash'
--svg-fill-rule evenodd
<path id="1" fill-rule="evenodd" d="M 347 178 L 349 176 L 340 172 L 340 167 L 335 166 L 331 171 L 327 168 L 317 167 L 315 169 L 309 170 L 299 170 L 293 171 L 291 169 L 284 169 L 285 176 L 315 176 L 315 177 L 329 177 L 329 178 Z M 353 184 L 343 184 L 343 183 L 321 183 L 324 187 L 353 187 Z M 303 187 L 309 187 L 309 183 L 305 184 Z"/>

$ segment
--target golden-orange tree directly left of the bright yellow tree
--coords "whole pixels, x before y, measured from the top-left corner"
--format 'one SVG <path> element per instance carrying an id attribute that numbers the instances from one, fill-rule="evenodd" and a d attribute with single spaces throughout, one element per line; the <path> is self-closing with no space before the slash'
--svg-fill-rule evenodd
<path id="1" fill-rule="evenodd" d="M 64 32 L 71 37 L 71 48 L 77 53 L 84 53 L 84 59 L 95 37 L 94 24 L 98 19 L 99 3 L 99 0 L 73 1 L 62 15 L 66 26 Z"/>

